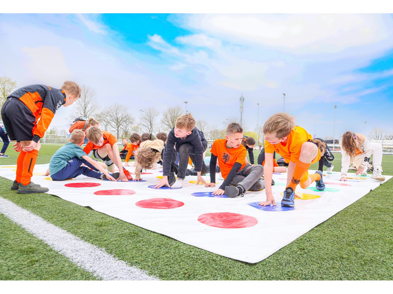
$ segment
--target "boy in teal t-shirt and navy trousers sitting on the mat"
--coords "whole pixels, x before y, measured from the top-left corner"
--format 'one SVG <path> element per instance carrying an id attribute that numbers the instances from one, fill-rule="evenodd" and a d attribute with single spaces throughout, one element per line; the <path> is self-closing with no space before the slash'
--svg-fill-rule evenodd
<path id="1" fill-rule="evenodd" d="M 67 143 L 53 154 L 49 162 L 49 172 L 53 181 L 64 181 L 76 178 L 81 174 L 90 178 L 101 180 L 117 181 L 119 173 L 110 175 L 98 162 L 87 156 L 81 148 L 84 141 L 82 130 L 73 130 L 71 133 L 71 143 Z M 88 167 L 81 166 L 82 164 Z M 98 171 L 101 171 L 102 174 Z"/>

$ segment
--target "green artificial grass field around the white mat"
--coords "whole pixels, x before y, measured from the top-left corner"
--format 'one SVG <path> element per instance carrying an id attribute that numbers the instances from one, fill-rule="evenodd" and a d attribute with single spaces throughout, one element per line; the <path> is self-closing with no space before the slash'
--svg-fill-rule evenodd
<path id="1" fill-rule="evenodd" d="M 61 145 L 42 144 L 37 164 L 48 163 Z M 6 154 L 10 158 L 1 158 L 0 164 L 15 164 L 17 153 L 11 146 Z M 254 154 L 256 160 L 259 151 Z M 334 171 L 340 171 L 341 154 L 334 156 Z M 384 174 L 393 175 L 393 156 L 384 155 L 382 166 Z M 9 189 L 11 183 L 0 178 L 3 198 L 160 279 L 393 279 L 393 180 L 256 264 L 213 254 L 50 194 L 17 194 Z M 3 215 L 0 230 L 0 280 L 96 279 Z"/>

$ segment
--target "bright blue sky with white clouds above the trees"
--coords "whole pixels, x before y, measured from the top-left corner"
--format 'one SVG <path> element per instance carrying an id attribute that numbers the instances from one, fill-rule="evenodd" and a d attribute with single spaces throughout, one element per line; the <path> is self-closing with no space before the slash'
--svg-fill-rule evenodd
<path id="1" fill-rule="evenodd" d="M 64 80 L 95 89 L 101 108 L 180 105 L 253 130 L 285 111 L 321 138 L 393 132 L 393 16 L 388 14 L 2 14 L 0 76 L 19 87 Z M 4 58 L 7 56 L 7 58 Z M 61 107 L 52 125 L 63 125 Z M 367 124 L 364 122 L 367 121 Z"/>

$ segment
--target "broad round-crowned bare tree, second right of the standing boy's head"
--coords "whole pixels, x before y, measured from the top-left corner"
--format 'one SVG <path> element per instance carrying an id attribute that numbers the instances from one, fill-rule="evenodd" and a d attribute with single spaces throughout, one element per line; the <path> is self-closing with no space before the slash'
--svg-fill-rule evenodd
<path id="1" fill-rule="evenodd" d="M 127 130 L 127 127 L 134 123 L 134 118 L 130 116 L 123 105 L 114 104 L 99 114 L 100 126 L 105 129 L 111 129 L 116 132 L 116 138 L 119 138 L 121 132 Z"/>

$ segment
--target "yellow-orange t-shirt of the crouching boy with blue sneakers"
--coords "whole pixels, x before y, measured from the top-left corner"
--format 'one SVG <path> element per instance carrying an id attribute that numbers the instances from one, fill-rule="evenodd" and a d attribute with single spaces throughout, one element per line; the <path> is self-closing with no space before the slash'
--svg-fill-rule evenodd
<path id="1" fill-rule="evenodd" d="M 308 140 L 312 141 L 312 136 L 302 127 L 295 125 L 288 135 L 286 144 L 284 142 L 278 144 L 270 144 L 265 140 L 265 153 L 274 153 L 275 151 L 281 156 L 283 156 L 286 163 L 298 162 L 301 145 Z M 321 151 L 318 148 L 318 155 L 312 160 L 311 164 L 316 163 L 320 159 Z"/>

